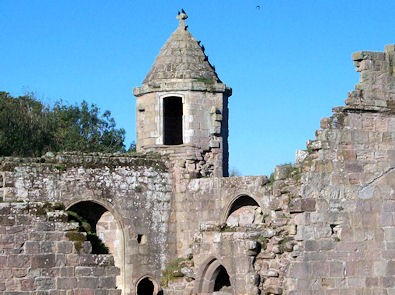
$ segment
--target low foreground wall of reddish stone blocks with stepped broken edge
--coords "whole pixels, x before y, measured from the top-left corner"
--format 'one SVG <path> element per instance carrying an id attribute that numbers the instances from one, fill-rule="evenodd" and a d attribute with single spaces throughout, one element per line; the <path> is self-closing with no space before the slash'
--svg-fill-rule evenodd
<path id="1" fill-rule="evenodd" d="M 111 255 L 90 254 L 84 235 L 49 203 L 0 203 L 1 295 L 120 295 Z"/>

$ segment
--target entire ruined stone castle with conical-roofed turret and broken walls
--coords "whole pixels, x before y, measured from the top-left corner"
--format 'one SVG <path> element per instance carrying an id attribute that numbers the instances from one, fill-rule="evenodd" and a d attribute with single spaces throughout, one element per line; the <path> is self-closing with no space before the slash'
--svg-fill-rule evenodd
<path id="1" fill-rule="evenodd" d="M 227 177 L 232 90 L 177 18 L 134 89 L 137 154 L 0 158 L 0 295 L 395 294 L 395 45 L 352 55 L 295 164 Z"/>

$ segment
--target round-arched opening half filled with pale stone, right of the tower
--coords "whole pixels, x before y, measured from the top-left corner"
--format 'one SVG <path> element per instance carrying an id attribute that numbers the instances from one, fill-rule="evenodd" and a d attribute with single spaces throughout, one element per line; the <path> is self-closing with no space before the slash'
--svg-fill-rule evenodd
<path id="1" fill-rule="evenodd" d="M 262 224 L 264 216 L 259 204 L 250 196 L 238 197 L 227 214 L 226 224 L 230 227 Z"/>

